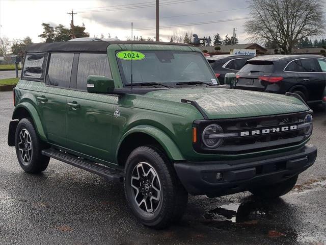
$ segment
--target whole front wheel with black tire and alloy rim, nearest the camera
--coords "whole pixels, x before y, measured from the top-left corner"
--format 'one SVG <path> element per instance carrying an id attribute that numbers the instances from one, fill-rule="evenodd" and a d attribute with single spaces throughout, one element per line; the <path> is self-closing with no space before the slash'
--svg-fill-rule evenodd
<path id="1" fill-rule="evenodd" d="M 188 200 L 169 159 L 151 146 L 141 146 L 129 155 L 124 189 L 132 213 L 156 229 L 178 221 Z"/>

